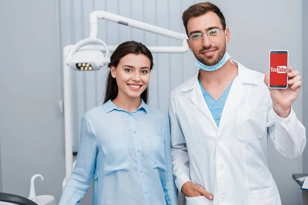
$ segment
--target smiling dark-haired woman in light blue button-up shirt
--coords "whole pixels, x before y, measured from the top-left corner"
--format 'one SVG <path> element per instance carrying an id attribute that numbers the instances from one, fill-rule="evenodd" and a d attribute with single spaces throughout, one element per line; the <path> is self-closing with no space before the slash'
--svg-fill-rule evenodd
<path id="1" fill-rule="evenodd" d="M 92 176 L 92 204 L 177 205 L 169 118 L 147 105 L 152 54 L 125 42 L 108 67 L 104 105 L 81 121 L 76 165 L 59 205 L 77 204 Z"/>

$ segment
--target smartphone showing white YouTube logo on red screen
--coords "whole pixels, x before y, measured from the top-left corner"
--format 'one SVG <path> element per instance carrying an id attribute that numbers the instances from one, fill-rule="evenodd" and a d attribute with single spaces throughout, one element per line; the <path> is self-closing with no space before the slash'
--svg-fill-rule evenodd
<path id="1" fill-rule="evenodd" d="M 269 80 L 268 87 L 273 89 L 287 88 L 288 51 L 269 51 Z"/>

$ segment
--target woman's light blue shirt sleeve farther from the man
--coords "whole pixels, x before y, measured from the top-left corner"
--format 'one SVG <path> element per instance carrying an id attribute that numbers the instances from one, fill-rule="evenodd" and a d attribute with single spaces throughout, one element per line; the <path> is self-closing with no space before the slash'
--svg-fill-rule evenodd
<path id="1" fill-rule="evenodd" d="M 83 117 L 76 165 L 65 185 L 59 205 L 79 204 L 85 196 L 93 176 L 96 155 L 95 136 L 87 118 Z"/>

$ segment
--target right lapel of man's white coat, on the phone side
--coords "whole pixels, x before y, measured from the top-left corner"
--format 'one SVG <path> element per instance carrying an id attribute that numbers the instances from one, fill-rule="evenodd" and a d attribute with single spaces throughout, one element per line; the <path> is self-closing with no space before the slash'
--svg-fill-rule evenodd
<path id="1" fill-rule="evenodd" d="M 238 104 L 243 100 L 244 96 L 247 94 L 248 89 L 241 83 L 239 77 L 236 77 L 233 81 L 231 89 L 229 91 L 228 97 L 226 99 L 220 122 L 218 127 L 218 136 L 220 135 L 223 127 L 225 126 L 227 120 L 236 110 Z"/>

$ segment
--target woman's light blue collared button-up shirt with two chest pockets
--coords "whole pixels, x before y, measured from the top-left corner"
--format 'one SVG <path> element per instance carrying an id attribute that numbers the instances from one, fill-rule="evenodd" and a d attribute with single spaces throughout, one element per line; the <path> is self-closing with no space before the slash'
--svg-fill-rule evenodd
<path id="1" fill-rule="evenodd" d="M 79 204 L 92 176 L 93 204 L 177 205 L 168 116 L 144 101 L 131 113 L 111 100 L 87 111 L 59 205 Z"/>

